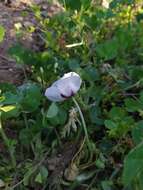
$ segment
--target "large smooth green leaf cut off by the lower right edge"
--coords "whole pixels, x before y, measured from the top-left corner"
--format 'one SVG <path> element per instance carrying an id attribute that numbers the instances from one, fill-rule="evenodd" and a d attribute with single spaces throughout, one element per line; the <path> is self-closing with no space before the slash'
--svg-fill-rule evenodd
<path id="1" fill-rule="evenodd" d="M 123 183 L 128 186 L 143 172 L 143 143 L 129 152 L 124 160 Z"/>

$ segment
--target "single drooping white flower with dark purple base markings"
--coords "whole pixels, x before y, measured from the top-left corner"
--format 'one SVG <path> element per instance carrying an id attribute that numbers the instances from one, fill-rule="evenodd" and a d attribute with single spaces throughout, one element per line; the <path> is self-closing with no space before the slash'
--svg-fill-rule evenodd
<path id="1" fill-rule="evenodd" d="M 76 94 L 80 89 L 81 82 L 81 78 L 77 73 L 66 73 L 46 89 L 45 96 L 53 102 L 66 100 Z"/>

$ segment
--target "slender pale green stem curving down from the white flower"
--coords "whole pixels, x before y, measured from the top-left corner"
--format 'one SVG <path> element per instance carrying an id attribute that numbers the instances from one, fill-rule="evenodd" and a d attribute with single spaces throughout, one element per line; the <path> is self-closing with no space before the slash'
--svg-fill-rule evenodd
<path id="1" fill-rule="evenodd" d="M 89 137 L 88 137 L 88 132 L 87 132 L 87 127 L 86 127 L 86 123 L 85 123 L 85 120 L 84 120 L 84 116 L 82 114 L 82 111 L 81 111 L 80 106 L 79 106 L 78 102 L 76 101 L 76 99 L 74 97 L 72 99 L 73 99 L 73 101 L 74 101 L 74 103 L 75 103 L 75 105 L 76 105 L 76 107 L 78 109 L 78 112 L 79 112 L 79 115 L 80 115 L 80 118 L 81 118 L 81 121 L 82 121 L 83 129 L 84 129 L 87 145 L 88 145 L 88 147 L 90 149 L 90 141 L 89 141 Z"/>

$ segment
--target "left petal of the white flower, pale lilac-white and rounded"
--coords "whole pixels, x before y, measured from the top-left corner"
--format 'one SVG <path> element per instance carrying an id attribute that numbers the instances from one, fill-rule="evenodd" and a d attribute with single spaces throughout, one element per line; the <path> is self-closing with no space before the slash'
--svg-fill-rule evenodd
<path id="1" fill-rule="evenodd" d="M 65 98 L 61 96 L 58 88 L 56 88 L 55 86 L 51 86 L 47 88 L 45 92 L 45 96 L 53 102 L 60 102 L 60 101 L 65 100 Z"/>

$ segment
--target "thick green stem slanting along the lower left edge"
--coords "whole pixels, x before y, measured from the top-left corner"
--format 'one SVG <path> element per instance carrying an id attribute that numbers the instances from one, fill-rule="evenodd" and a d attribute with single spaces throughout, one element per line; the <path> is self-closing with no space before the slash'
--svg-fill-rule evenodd
<path id="1" fill-rule="evenodd" d="M 5 132 L 4 132 L 3 128 L 2 128 L 1 118 L 0 118 L 0 134 L 2 136 L 2 139 L 3 139 L 4 143 L 5 143 L 5 145 L 8 148 L 8 152 L 9 152 L 9 155 L 10 155 L 10 158 L 11 158 L 12 166 L 13 166 L 13 168 L 15 168 L 15 166 L 16 166 L 16 159 L 15 159 L 15 156 L 13 154 L 12 147 L 9 145 L 9 139 L 6 136 L 6 134 L 5 134 Z"/>

